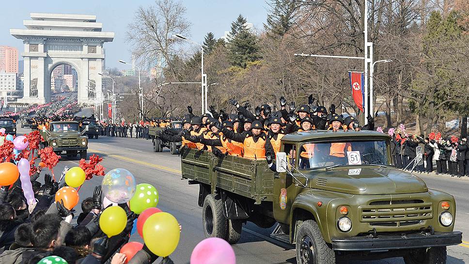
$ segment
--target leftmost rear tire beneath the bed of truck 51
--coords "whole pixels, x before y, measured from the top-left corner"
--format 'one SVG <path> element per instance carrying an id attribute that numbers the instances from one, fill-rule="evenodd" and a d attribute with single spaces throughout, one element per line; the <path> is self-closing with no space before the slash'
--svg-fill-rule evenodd
<path id="1" fill-rule="evenodd" d="M 211 194 L 205 197 L 202 207 L 202 226 L 205 237 L 226 238 L 228 221 L 223 215 L 220 198 L 216 199 Z"/>

